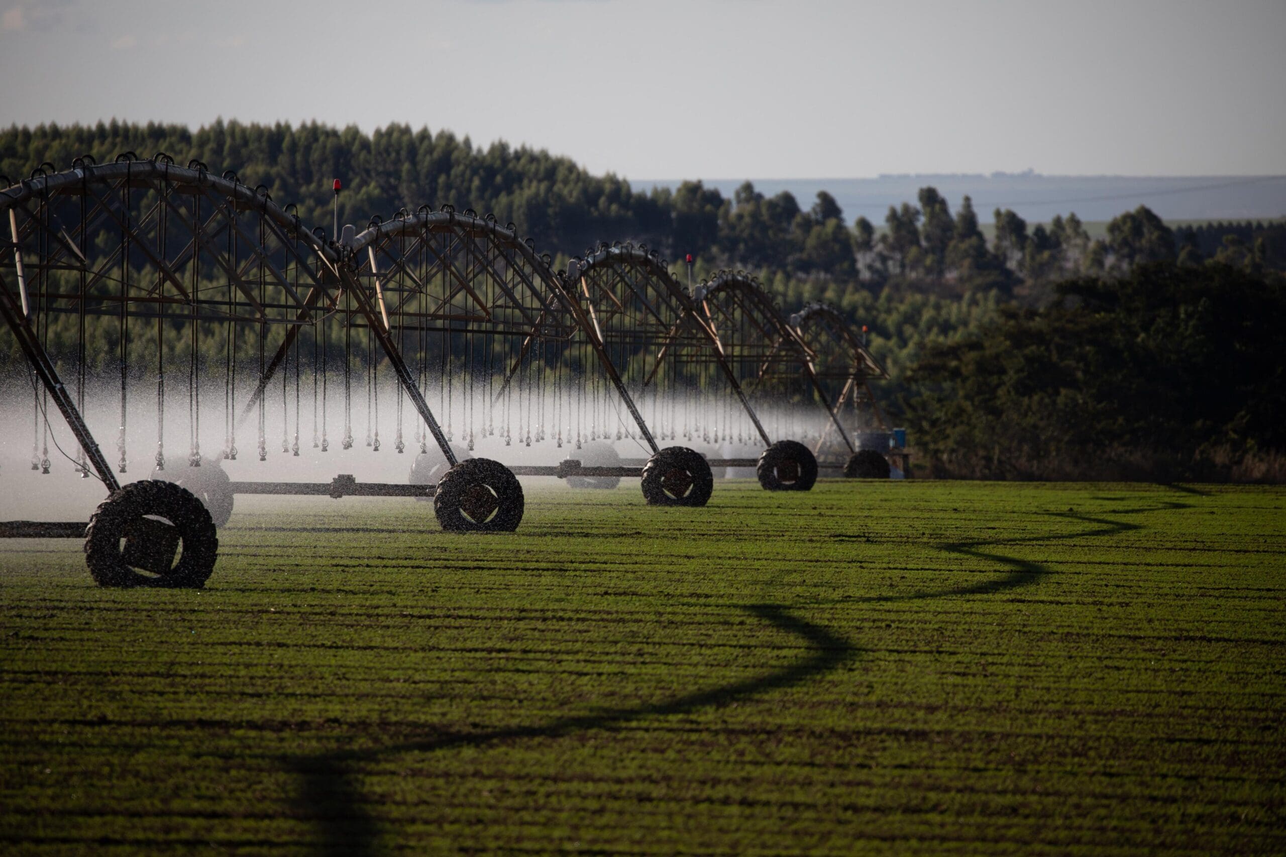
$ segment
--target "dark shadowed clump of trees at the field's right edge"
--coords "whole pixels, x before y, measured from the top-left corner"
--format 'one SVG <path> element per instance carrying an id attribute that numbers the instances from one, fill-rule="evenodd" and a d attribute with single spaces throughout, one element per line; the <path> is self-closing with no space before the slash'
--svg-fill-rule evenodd
<path id="1" fill-rule="evenodd" d="M 1286 278 L 1155 261 L 1003 308 L 907 373 L 943 476 L 1286 480 Z"/>

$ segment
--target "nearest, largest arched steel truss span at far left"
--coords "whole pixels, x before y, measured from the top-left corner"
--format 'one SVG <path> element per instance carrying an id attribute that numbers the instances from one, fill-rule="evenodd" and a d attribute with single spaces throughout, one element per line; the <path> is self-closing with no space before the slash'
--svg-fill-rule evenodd
<path id="1" fill-rule="evenodd" d="M 81 418 L 84 354 L 73 400 L 36 327 L 67 314 L 81 319 L 82 333 L 86 315 L 114 317 L 122 327 L 136 318 L 158 326 L 297 320 L 310 301 L 333 301 L 343 283 L 336 253 L 289 208 L 262 185 L 216 176 L 197 161 L 181 167 L 165 154 L 126 153 L 102 165 L 76 158 L 62 172 L 41 165 L 0 190 L 10 238 L 0 251 L 0 311 L 109 492 L 120 483 Z M 123 387 L 123 350 L 121 377 Z M 120 466 L 123 472 L 123 453 Z"/>

